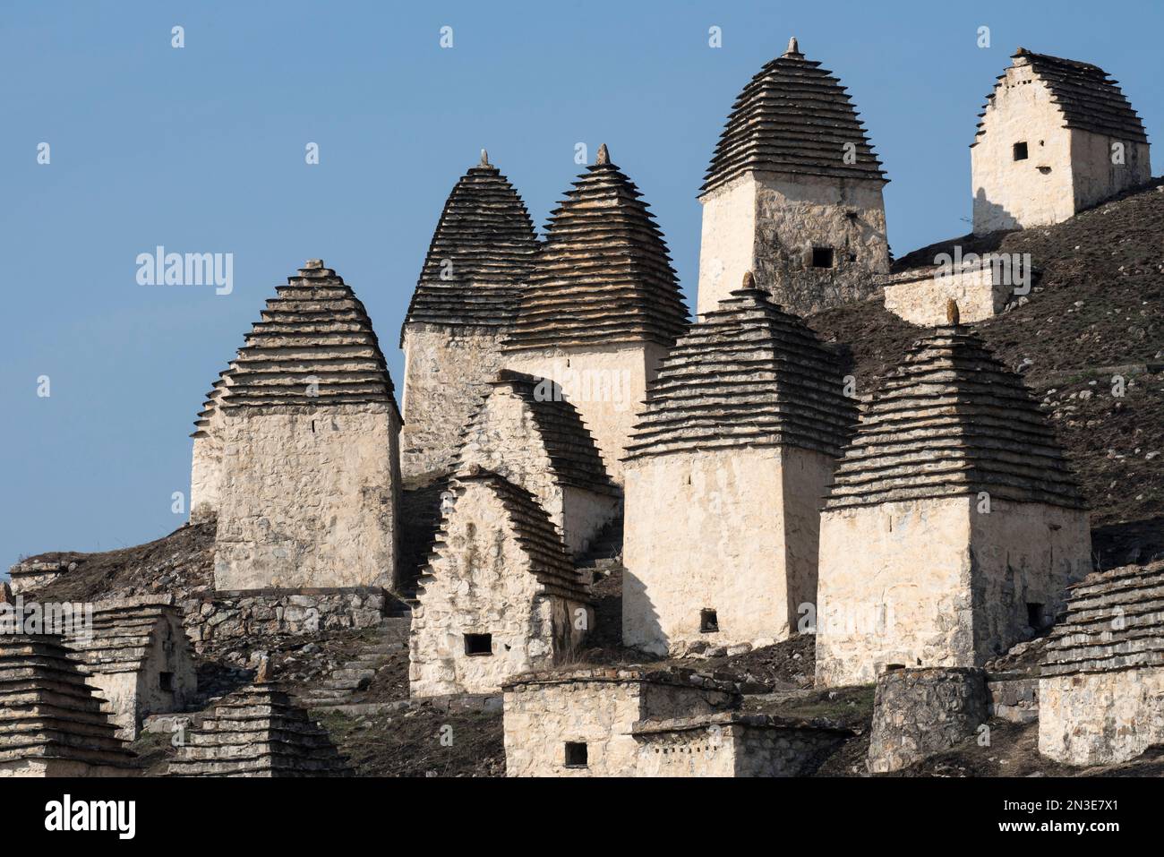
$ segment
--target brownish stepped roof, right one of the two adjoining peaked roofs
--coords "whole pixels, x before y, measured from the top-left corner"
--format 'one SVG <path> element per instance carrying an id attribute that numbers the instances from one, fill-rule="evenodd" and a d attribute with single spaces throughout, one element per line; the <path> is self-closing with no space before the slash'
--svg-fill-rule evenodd
<path id="1" fill-rule="evenodd" d="M 687 307 L 654 215 L 605 144 L 553 211 L 511 349 L 619 341 L 670 345 Z"/>

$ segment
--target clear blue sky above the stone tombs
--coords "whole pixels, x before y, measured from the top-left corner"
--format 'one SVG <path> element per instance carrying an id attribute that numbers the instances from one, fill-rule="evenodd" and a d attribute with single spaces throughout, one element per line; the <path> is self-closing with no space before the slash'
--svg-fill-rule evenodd
<path id="1" fill-rule="evenodd" d="M 355 288 L 399 394 L 409 296 L 482 147 L 540 228 L 582 170 L 575 144 L 608 143 L 690 299 L 703 170 L 790 35 L 856 99 L 902 255 L 967 231 L 966 147 L 1018 45 L 1103 66 L 1164 140 L 1162 31 L 1149 2 L 6 0 L 0 565 L 177 527 L 204 394 L 306 258 Z M 233 292 L 140 285 L 158 245 L 234 254 Z"/>

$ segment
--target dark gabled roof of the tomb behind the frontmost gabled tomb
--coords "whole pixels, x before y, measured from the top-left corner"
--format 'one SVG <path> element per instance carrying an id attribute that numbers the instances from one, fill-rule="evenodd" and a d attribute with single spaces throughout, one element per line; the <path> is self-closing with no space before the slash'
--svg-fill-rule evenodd
<path id="1" fill-rule="evenodd" d="M 583 488 L 598 494 L 618 494 L 619 490 L 606 473 L 598 447 L 582 422 L 582 415 L 566 401 L 560 387 L 546 378 L 503 369 L 490 382 L 490 391 L 462 432 L 462 442 L 453 463 L 453 472 L 462 468 L 464 444 L 482 431 L 482 422 L 488 415 L 492 395 L 508 390 L 525 404 L 528 418 L 526 432 L 535 432 L 549 455 L 552 477 L 560 486 Z"/>

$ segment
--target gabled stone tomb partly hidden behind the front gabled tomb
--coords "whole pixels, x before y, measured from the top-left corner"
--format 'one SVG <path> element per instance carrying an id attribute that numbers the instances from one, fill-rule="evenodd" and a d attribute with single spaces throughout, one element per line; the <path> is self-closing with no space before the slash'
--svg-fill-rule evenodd
<path id="1" fill-rule="evenodd" d="M 579 555 L 617 517 L 620 491 L 561 388 L 505 369 L 461 434 L 454 472 L 492 470 L 530 491 Z"/>

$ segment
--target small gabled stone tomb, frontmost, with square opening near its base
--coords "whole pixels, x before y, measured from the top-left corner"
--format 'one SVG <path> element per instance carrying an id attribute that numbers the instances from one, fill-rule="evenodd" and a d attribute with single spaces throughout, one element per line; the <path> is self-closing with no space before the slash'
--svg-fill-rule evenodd
<path id="1" fill-rule="evenodd" d="M 474 466 L 450 493 L 412 610 L 413 696 L 498 693 L 572 657 L 594 624 L 589 587 L 530 491 Z"/>

